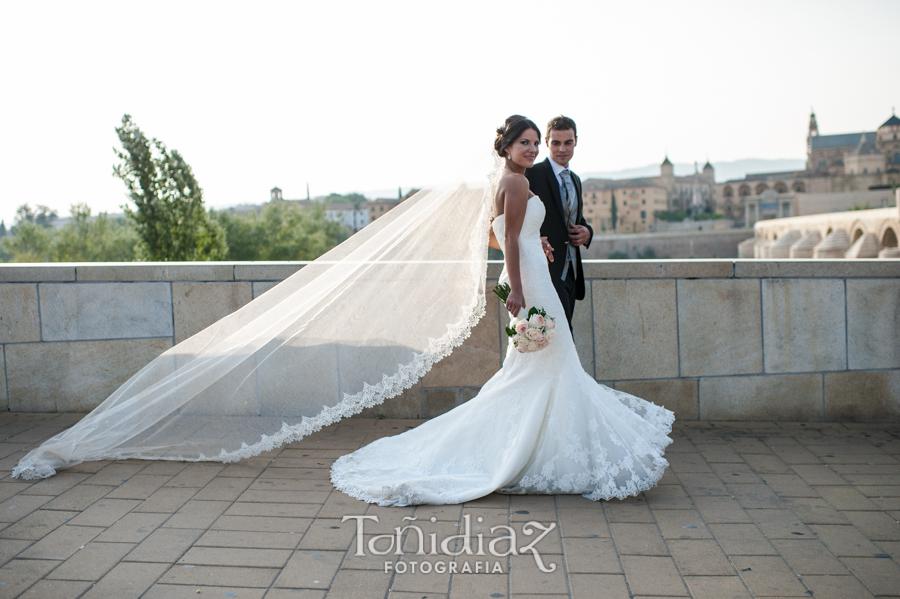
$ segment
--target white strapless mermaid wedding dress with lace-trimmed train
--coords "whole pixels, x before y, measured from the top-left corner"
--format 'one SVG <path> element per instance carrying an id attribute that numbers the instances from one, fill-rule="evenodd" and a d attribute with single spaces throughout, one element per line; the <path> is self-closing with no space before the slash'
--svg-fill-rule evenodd
<path id="1" fill-rule="evenodd" d="M 501 493 L 622 499 L 655 486 L 674 414 L 597 383 L 581 367 L 541 247 L 544 205 L 528 200 L 519 235 L 529 307 L 556 319 L 541 351 L 510 343 L 503 367 L 465 404 L 340 457 L 334 486 L 379 505 L 462 503 Z M 503 239 L 503 215 L 494 219 Z M 508 281 L 506 269 L 500 281 Z M 576 334 L 579 332 L 576 331 Z"/>

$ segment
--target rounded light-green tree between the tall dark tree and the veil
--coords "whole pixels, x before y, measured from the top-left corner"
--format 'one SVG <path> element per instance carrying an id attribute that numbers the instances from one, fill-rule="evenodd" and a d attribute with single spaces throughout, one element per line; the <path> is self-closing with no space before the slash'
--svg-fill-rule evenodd
<path id="1" fill-rule="evenodd" d="M 315 260 L 347 238 L 326 218 L 325 206 L 269 203 L 259 213 L 216 213 L 225 230 L 228 260 Z"/>

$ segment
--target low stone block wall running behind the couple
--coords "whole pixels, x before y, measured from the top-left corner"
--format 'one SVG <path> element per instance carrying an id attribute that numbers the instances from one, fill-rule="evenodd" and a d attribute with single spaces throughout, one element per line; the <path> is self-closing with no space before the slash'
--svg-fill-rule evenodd
<path id="1" fill-rule="evenodd" d="M 90 410 L 302 267 L 2 265 L 0 406 Z M 591 261 L 585 277 L 575 312 L 585 370 L 682 420 L 900 420 L 900 261 Z M 429 418 L 474 396 L 506 347 L 505 311 L 488 307 L 416 387 L 360 417 Z"/>

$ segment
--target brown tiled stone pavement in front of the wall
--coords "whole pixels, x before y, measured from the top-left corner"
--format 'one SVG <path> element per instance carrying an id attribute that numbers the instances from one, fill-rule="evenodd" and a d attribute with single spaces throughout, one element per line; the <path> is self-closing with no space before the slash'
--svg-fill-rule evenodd
<path id="1" fill-rule="evenodd" d="M 336 457 L 419 422 L 406 420 L 344 420 L 231 465 L 93 462 L 9 477 L 76 419 L 0 414 L 0 599 L 900 596 L 897 424 L 679 423 L 661 484 L 627 501 L 494 494 L 379 508 L 332 488 Z M 402 555 L 356 555 L 356 522 L 341 519 L 364 514 L 378 517 L 364 545 L 389 549 L 378 535 L 416 524 L 438 554 L 416 555 L 407 529 Z M 442 554 L 466 517 L 485 555 Z M 553 572 L 527 552 L 488 550 L 510 534 L 497 525 L 520 549 L 534 541 L 529 520 L 556 525 L 535 545 Z M 430 573 L 411 573 L 423 563 Z"/>

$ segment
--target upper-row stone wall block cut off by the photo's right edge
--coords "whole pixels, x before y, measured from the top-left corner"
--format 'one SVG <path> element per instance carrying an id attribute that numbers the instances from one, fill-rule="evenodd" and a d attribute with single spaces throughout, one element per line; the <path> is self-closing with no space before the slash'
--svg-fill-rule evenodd
<path id="1" fill-rule="evenodd" d="M 847 281 L 850 370 L 900 368 L 900 279 Z"/>

